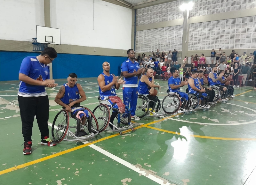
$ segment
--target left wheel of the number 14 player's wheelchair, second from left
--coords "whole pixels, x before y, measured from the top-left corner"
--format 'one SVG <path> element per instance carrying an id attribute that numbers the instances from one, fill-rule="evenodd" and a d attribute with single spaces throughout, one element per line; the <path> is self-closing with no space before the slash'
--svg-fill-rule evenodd
<path id="1" fill-rule="evenodd" d="M 108 106 L 105 104 L 100 104 L 93 109 L 92 113 L 98 122 L 99 132 L 104 131 L 108 127 L 108 122 L 110 120 L 110 112 Z"/>

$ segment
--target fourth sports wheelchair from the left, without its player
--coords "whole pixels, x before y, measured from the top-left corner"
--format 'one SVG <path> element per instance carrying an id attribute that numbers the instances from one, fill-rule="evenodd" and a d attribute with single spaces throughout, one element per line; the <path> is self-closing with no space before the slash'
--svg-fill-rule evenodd
<path id="1" fill-rule="evenodd" d="M 169 89 L 166 92 L 168 94 L 162 101 L 162 108 L 166 114 L 175 114 L 176 112 L 188 114 L 194 110 L 194 107 L 197 107 L 197 104 L 196 106 L 193 105 L 190 98 L 188 98 L 188 101 L 186 102 L 186 107 L 181 107 L 180 95 L 178 93 L 170 92 Z"/>

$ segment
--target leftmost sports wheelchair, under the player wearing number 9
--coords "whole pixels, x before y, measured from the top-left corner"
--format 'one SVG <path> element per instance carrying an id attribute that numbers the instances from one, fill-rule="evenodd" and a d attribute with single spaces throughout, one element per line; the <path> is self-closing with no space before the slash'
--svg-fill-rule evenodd
<path id="1" fill-rule="evenodd" d="M 75 116 L 66 111 L 65 109 L 62 109 L 58 114 L 55 116 L 53 123 L 52 123 L 52 138 L 56 143 L 60 143 L 62 140 L 64 141 L 81 141 L 84 139 L 89 139 L 94 136 L 96 136 L 99 131 L 98 122 L 93 115 L 92 111 L 89 108 L 83 107 L 84 110 L 87 110 L 89 113 L 89 118 L 85 121 L 85 127 L 89 131 L 89 135 L 82 136 L 82 137 L 76 137 L 75 133 L 73 133 L 70 129 L 76 128 L 76 126 L 69 126 L 69 118 L 75 118 L 76 119 L 76 125 L 77 128 L 80 128 L 81 121 L 76 118 Z M 79 127 L 78 127 L 79 126 Z"/>

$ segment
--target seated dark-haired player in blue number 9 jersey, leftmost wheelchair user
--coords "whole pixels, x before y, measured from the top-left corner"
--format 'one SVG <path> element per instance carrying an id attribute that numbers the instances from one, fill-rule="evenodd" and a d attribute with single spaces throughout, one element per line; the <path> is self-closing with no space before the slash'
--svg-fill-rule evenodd
<path id="1" fill-rule="evenodd" d="M 78 117 L 77 114 L 79 114 L 78 118 L 80 118 L 81 121 L 76 122 L 75 136 L 81 137 L 87 135 L 87 133 L 84 132 L 84 124 L 86 119 L 88 119 L 88 124 L 91 120 L 88 111 L 85 110 L 84 107 L 80 106 L 80 103 L 86 100 L 86 95 L 82 86 L 77 84 L 76 81 L 77 75 L 75 73 L 70 73 L 68 75 L 68 83 L 63 84 L 60 87 L 54 101 L 62 106 L 63 109 L 70 112 L 72 118 L 76 119 L 76 117 Z"/>

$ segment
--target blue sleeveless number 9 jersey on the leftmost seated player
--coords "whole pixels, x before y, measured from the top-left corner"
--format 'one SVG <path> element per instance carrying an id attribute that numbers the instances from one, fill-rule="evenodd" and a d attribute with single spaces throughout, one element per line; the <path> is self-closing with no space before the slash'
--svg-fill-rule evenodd
<path id="1" fill-rule="evenodd" d="M 65 94 L 64 96 L 60 99 L 63 103 L 69 104 L 72 101 L 76 101 L 80 98 L 79 96 L 79 90 L 77 88 L 77 85 L 75 84 L 74 87 L 69 87 L 67 84 L 63 84 L 65 87 Z"/>

